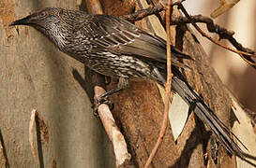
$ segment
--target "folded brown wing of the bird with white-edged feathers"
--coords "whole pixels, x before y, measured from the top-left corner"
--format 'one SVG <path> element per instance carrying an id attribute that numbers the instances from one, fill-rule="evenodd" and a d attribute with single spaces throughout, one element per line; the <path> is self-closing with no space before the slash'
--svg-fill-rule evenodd
<path id="1" fill-rule="evenodd" d="M 108 15 L 87 15 L 76 30 L 86 36 L 97 49 L 115 54 L 133 55 L 149 60 L 166 62 L 166 42 L 157 35 L 146 33 L 128 21 Z M 96 49 L 96 48 L 94 48 Z M 92 49 L 93 50 L 93 49 Z M 185 54 L 172 47 L 176 57 Z M 175 59 L 175 58 L 174 58 Z"/>

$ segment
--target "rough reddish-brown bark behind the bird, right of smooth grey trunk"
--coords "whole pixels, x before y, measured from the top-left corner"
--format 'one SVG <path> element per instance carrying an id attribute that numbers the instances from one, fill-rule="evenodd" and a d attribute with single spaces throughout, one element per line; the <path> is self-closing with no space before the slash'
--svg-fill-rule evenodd
<path id="1" fill-rule="evenodd" d="M 107 14 L 118 15 L 111 11 L 107 11 Z M 175 12 L 175 15 L 178 13 Z M 151 30 L 146 21 L 147 19 L 136 24 Z M 185 70 L 188 82 L 202 94 L 205 102 L 218 113 L 219 118 L 230 126 L 231 99 L 218 75 L 209 66 L 208 56 L 201 44 L 186 26 L 173 28 L 172 35 L 176 47 L 195 60 L 185 61 L 191 67 L 191 70 Z M 133 82 L 128 90 L 113 95 L 113 102 L 113 115 L 120 121 L 132 158 L 135 164 L 143 167 L 157 141 L 162 119 L 163 103 L 158 87 L 150 82 Z M 115 110 L 118 113 L 114 113 Z M 235 159 L 228 156 L 222 147 L 218 150 L 218 164 L 212 161 L 209 153 L 211 136 L 206 130 L 207 128 L 205 129 L 193 113 L 190 114 L 185 129 L 176 143 L 169 127 L 152 167 L 235 167 Z M 208 155 L 209 161 L 204 162 L 205 154 Z"/>

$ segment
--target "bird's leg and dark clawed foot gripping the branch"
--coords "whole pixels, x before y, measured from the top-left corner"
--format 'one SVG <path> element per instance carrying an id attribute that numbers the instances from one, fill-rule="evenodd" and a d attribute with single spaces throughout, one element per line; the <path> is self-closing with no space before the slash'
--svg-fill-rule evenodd
<path id="1" fill-rule="evenodd" d="M 111 101 L 107 100 L 107 97 L 109 95 L 112 95 L 115 92 L 122 91 L 127 87 L 128 87 L 128 78 L 120 77 L 116 89 L 113 89 L 112 91 L 107 91 L 107 92 L 101 94 L 95 100 L 94 105 L 93 105 L 94 115 L 98 116 L 98 106 L 101 104 L 109 105 L 110 109 L 113 109 L 113 103 Z"/>

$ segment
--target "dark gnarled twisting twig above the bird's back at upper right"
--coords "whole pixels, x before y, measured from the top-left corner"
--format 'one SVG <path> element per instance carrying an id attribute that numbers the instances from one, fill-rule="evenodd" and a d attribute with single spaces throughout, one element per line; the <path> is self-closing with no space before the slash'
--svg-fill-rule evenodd
<path id="1" fill-rule="evenodd" d="M 172 4 L 172 7 L 176 6 L 176 5 L 179 6 L 184 1 L 185 0 L 176 1 L 175 3 Z M 155 7 L 148 7 L 148 8 L 139 10 L 139 11 L 137 11 L 135 13 L 132 13 L 132 14 L 129 14 L 129 15 L 124 15 L 121 18 L 123 18 L 125 20 L 128 20 L 128 21 L 140 21 L 144 17 L 157 14 L 158 12 L 160 12 L 160 11 L 162 11 L 164 9 L 165 9 L 164 3 L 159 3 Z M 176 19 L 173 19 L 173 21 L 171 21 L 171 25 L 192 23 L 195 26 L 195 28 L 197 29 L 197 31 L 199 31 L 199 33 L 201 35 L 203 35 L 204 37 L 208 38 L 210 41 L 212 41 L 213 43 L 217 44 L 221 48 L 228 49 L 228 50 L 230 50 L 230 51 L 232 51 L 234 53 L 239 54 L 239 56 L 241 56 L 244 61 L 246 61 L 247 63 L 249 63 L 250 65 L 255 67 L 255 62 L 250 58 L 250 57 L 256 57 L 255 51 L 252 50 L 252 49 L 244 48 L 242 46 L 242 44 L 238 43 L 237 40 L 233 37 L 233 35 L 234 35 L 233 31 L 229 31 L 226 28 L 221 27 L 218 24 L 215 24 L 214 21 L 211 18 L 202 16 L 202 15 L 189 16 L 189 18 L 188 18 L 188 16 L 189 15 L 187 15 L 186 17 L 180 16 L 180 17 L 178 17 Z M 227 39 L 233 45 L 233 47 L 235 49 L 229 48 L 229 47 L 223 45 L 222 43 L 220 43 L 218 40 L 212 38 L 211 36 L 206 35 L 195 24 L 195 22 L 203 22 L 203 23 L 205 23 L 206 27 L 207 27 L 207 30 L 210 33 L 218 34 L 219 39 Z"/>

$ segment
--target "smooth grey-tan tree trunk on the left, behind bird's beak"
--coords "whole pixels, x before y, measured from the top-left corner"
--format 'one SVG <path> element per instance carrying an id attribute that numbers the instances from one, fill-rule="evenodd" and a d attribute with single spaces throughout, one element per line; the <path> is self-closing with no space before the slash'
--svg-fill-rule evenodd
<path id="1" fill-rule="evenodd" d="M 7 164 L 3 153 L 9 167 L 38 167 L 28 141 L 33 108 L 38 109 L 41 123 L 44 167 L 113 167 L 113 157 L 107 157 L 112 155 L 109 140 L 93 116 L 86 92 L 72 75 L 73 68 L 83 75 L 83 64 L 32 28 L 8 27 L 43 7 L 75 9 L 77 4 L 68 0 L 0 2 L 0 131 L 6 150 L 0 152 L 0 167 Z M 34 136 L 37 139 L 36 132 Z"/>

